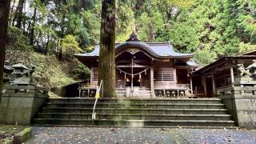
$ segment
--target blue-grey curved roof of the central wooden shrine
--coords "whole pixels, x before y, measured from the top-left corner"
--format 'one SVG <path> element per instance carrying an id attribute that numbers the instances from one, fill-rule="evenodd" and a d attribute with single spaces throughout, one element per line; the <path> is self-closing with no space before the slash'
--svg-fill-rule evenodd
<path id="1" fill-rule="evenodd" d="M 153 54 L 155 57 L 160 58 L 192 58 L 194 54 L 182 54 L 175 52 L 173 46 L 169 42 L 123 42 L 116 43 L 116 50 L 122 49 L 124 47 L 134 46 L 140 47 L 146 51 L 149 51 L 150 54 Z M 84 58 L 93 58 L 99 56 L 99 45 L 95 46 L 94 51 L 86 54 L 75 54 L 77 57 Z"/>

